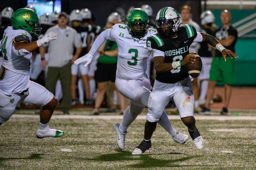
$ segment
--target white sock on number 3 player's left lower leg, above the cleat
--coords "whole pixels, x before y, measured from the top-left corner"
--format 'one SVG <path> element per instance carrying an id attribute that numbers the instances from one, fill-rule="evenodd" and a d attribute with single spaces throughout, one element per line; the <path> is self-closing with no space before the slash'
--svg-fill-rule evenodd
<path id="1" fill-rule="evenodd" d="M 122 134 L 126 133 L 127 128 L 133 123 L 143 109 L 144 107 L 139 107 L 130 103 L 130 105 L 124 111 L 122 123 L 119 125 L 119 131 Z"/>

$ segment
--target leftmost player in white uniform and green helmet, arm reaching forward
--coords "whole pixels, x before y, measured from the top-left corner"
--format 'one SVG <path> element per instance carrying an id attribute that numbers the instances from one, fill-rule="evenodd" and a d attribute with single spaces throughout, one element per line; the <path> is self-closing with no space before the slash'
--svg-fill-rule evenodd
<path id="1" fill-rule="evenodd" d="M 37 14 L 28 8 L 15 11 L 11 22 L 12 26 L 7 27 L 0 41 L 4 56 L 0 71 L 0 125 L 11 117 L 17 103 L 24 101 L 42 106 L 36 132 L 38 138 L 63 136 L 63 131 L 49 128 L 58 100 L 45 87 L 29 80 L 31 51 L 56 40 L 58 34 L 50 32 L 42 39 L 31 42 L 32 35 L 39 36 L 42 28 L 37 27 L 40 22 Z"/>

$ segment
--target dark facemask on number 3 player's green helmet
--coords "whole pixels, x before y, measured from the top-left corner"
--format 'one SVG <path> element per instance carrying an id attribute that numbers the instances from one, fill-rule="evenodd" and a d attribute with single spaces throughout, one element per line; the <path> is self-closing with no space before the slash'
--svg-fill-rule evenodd
<path id="1" fill-rule="evenodd" d="M 127 22 L 130 34 L 135 38 L 142 38 L 149 28 L 149 21 Z"/>

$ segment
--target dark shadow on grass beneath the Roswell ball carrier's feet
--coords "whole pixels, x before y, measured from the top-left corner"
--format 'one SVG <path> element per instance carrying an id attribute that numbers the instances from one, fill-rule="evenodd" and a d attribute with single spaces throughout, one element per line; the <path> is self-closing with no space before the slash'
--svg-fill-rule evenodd
<path id="1" fill-rule="evenodd" d="M 180 162 L 184 162 L 194 157 L 183 157 L 180 159 L 168 159 L 162 160 L 152 158 L 152 155 L 168 155 L 168 154 L 184 154 L 184 153 L 161 153 L 161 154 L 143 154 L 143 155 L 132 155 L 131 152 L 116 149 L 118 153 L 99 155 L 96 158 L 90 159 L 95 161 L 127 161 L 127 160 L 138 160 L 140 163 L 128 165 L 127 168 L 152 168 L 152 167 L 182 167 Z M 170 156 L 170 158 L 172 158 Z"/>

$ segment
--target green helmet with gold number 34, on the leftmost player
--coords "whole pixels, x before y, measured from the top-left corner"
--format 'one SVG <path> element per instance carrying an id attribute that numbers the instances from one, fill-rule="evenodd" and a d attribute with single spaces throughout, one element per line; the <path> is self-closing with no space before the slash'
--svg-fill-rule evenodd
<path id="1" fill-rule="evenodd" d="M 15 11 L 11 18 L 12 27 L 26 30 L 30 35 L 39 36 L 42 28 L 38 27 L 40 20 L 37 13 L 29 8 L 21 8 Z"/>

